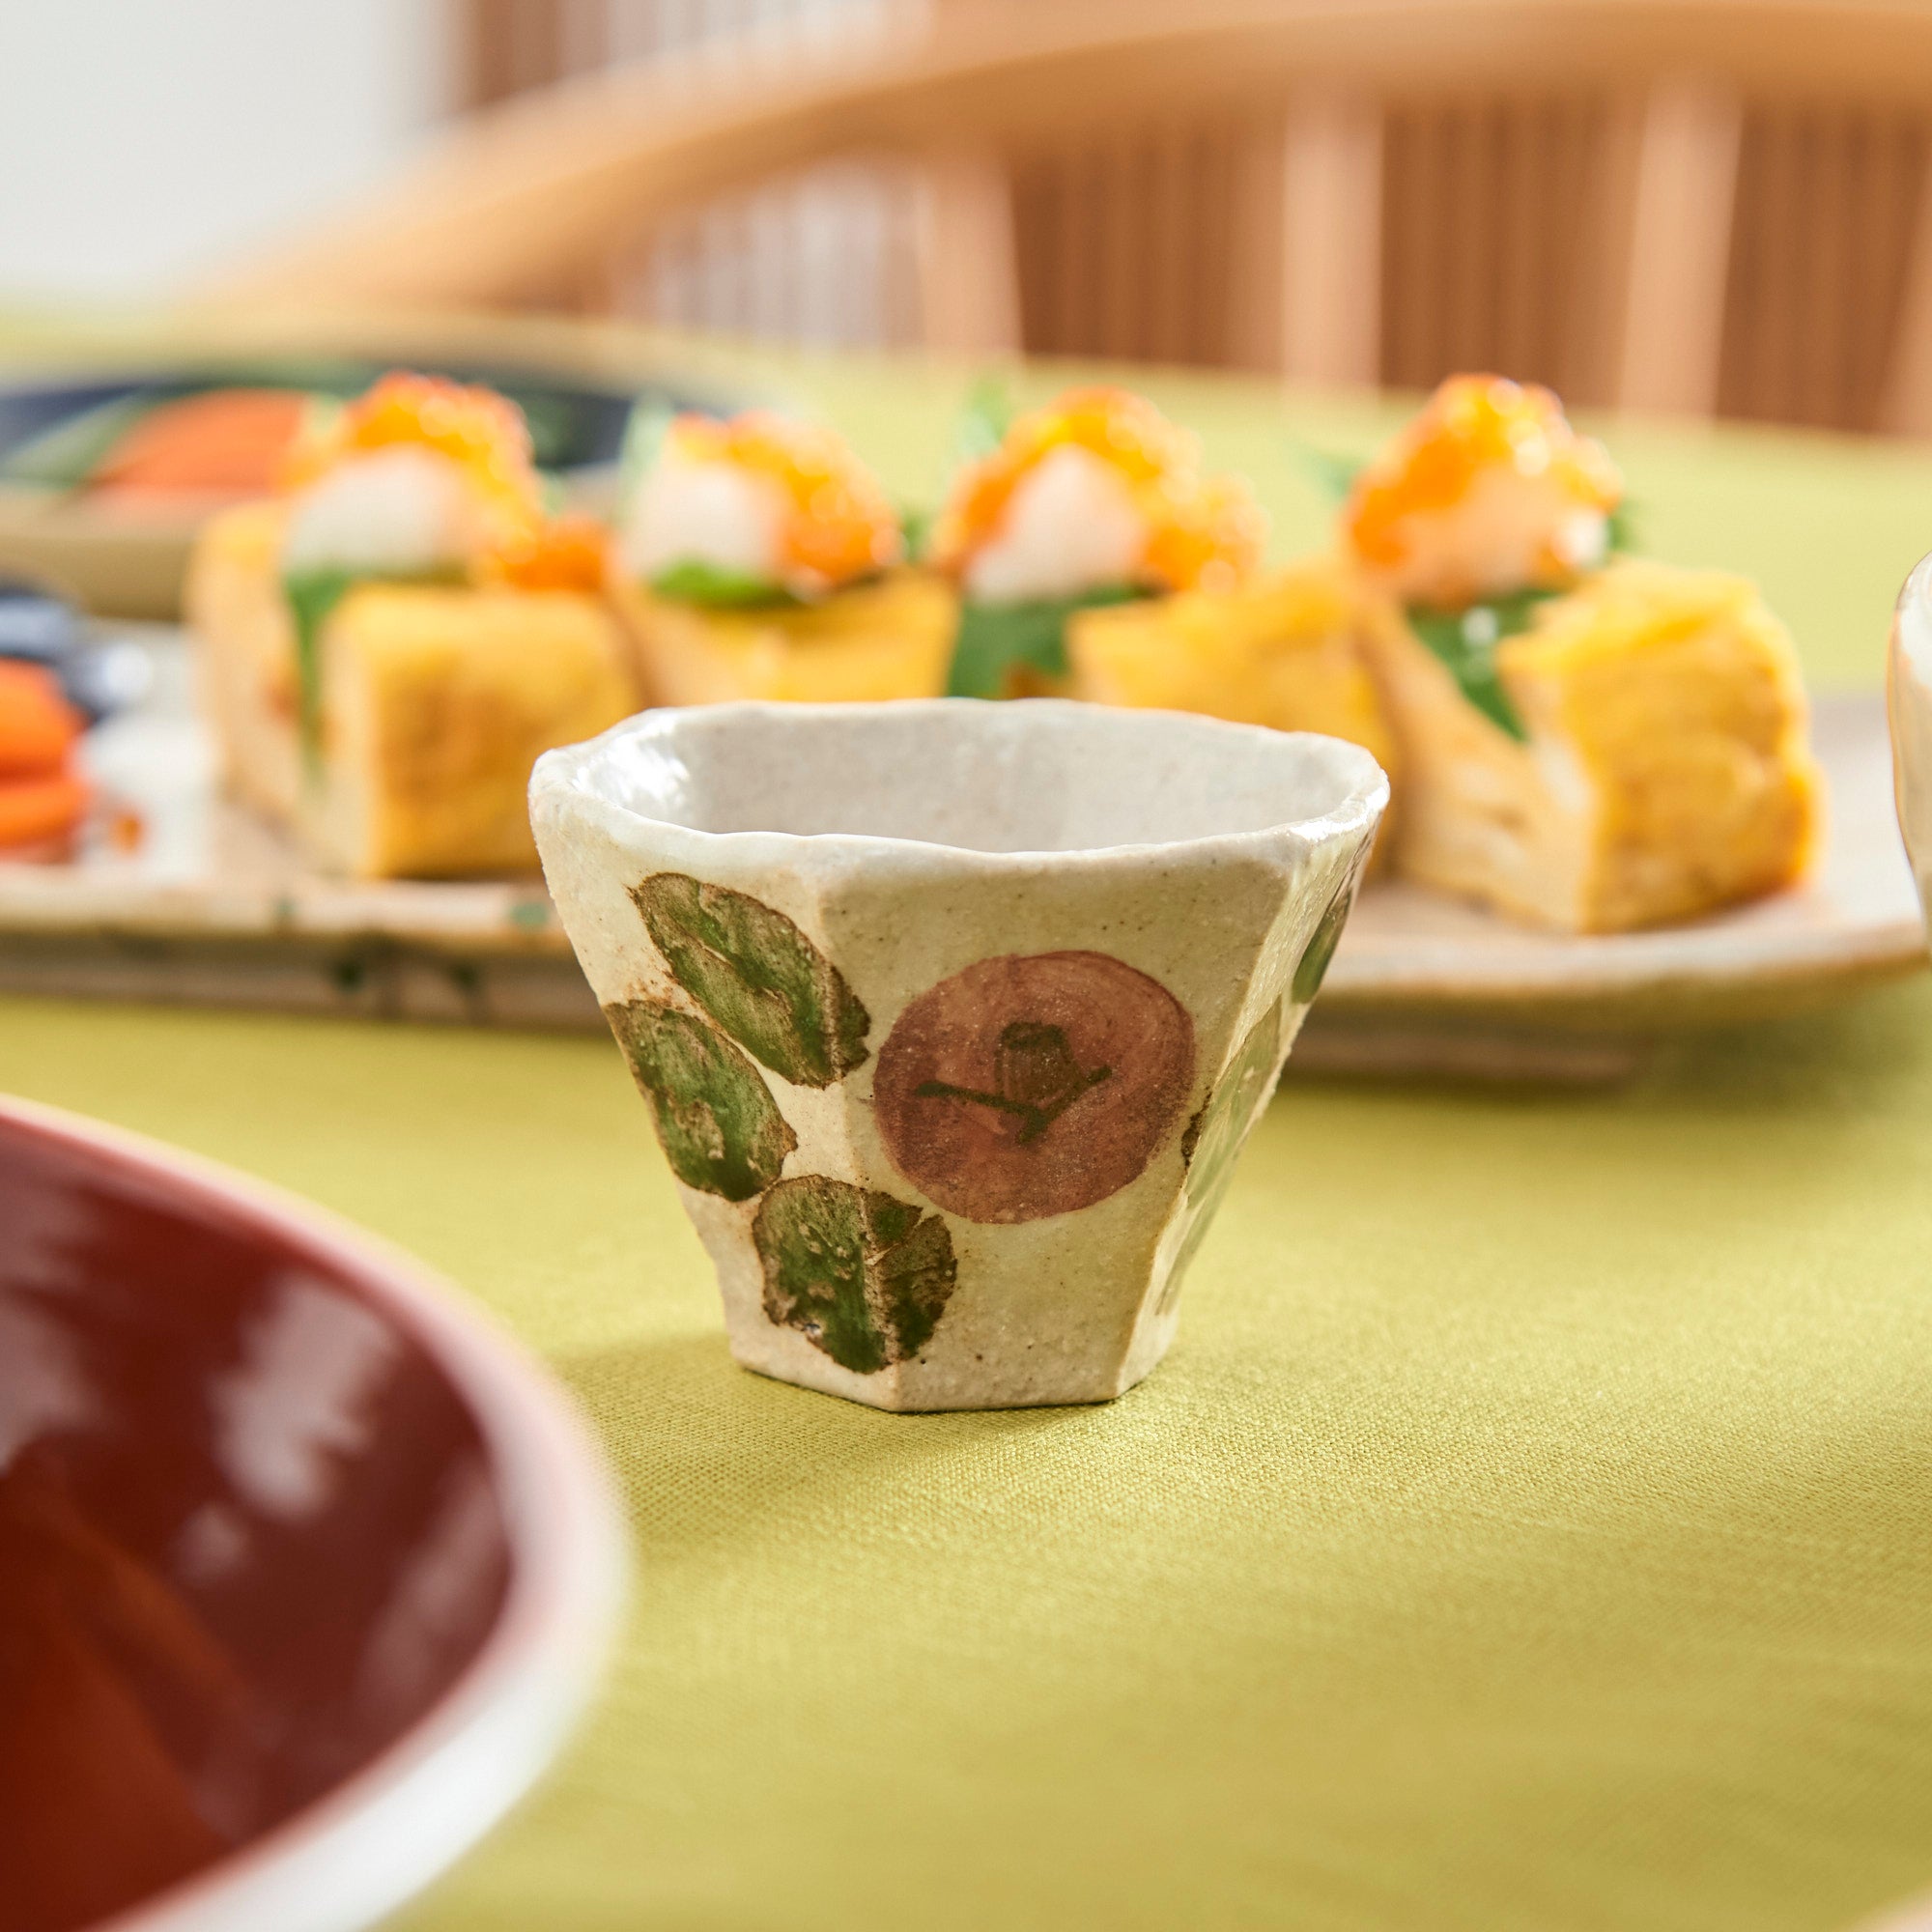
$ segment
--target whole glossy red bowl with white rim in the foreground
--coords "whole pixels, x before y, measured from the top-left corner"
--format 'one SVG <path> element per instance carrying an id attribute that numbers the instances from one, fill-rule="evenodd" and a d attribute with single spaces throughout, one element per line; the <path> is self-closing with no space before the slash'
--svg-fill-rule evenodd
<path id="1" fill-rule="evenodd" d="M 0 1924 L 348 1932 L 578 1710 L 622 1573 L 551 1383 L 253 1182 L 0 1101 Z"/>

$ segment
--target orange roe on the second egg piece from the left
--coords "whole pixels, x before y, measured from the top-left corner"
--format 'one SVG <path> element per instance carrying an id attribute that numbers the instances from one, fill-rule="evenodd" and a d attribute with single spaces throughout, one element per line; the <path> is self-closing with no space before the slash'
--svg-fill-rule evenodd
<path id="1" fill-rule="evenodd" d="M 831 429 L 755 410 L 728 423 L 680 415 L 667 448 L 684 462 L 734 464 L 779 485 L 788 504 L 779 551 L 794 589 L 838 589 L 904 556 L 885 491 Z"/>

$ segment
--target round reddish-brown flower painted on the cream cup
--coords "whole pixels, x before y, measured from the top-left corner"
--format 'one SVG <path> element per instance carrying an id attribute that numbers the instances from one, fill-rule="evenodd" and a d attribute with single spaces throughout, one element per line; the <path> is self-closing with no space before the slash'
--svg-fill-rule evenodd
<path id="1" fill-rule="evenodd" d="M 1105 1200 L 1167 1138 L 1194 1080 L 1194 1022 L 1105 952 L 978 960 L 929 987 L 879 1051 L 893 1165 L 968 1221 Z"/>

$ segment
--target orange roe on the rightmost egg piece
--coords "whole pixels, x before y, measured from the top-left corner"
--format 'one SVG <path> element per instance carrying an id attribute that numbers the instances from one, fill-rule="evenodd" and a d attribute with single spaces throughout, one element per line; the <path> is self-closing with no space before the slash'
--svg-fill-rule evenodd
<path id="1" fill-rule="evenodd" d="M 1401 570 L 1414 551 L 1410 520 L 1457 508 L 1492 469 L 1546 481 L 1573 512 L 1607 514 L 1623 497 L 1607 450 L 1577 435 L 1548 388 L 1457 375 L 1356 479 L 1343 518 L 1350 549 L 1372 568 Z M 1571 562 L 1546 545 L 1536 582 L 1561 585 L 1573 576 Z"/>

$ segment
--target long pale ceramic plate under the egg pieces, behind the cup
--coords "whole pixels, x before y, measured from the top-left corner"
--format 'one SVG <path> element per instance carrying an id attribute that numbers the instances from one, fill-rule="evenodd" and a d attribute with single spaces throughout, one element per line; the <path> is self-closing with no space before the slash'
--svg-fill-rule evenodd
<path id="1" fill-rule="evenodd" d="M 178 634 L 149 705 L 97 734 L 145 821 L 73 866 L 0 866 L 0 989 L 469 1024 L 603 1020 L 537 881 L 357 885 L 222 802 Z M 1660 1034 L 1789 1012 L 1917 972 L 1882 699 L 1816 707 L 1830 837 L 1799 891 L 1648 933 L 1565 937 L 1408 885 L 1362 895 L 1296 1068 L 1609 1076 Z"/>

